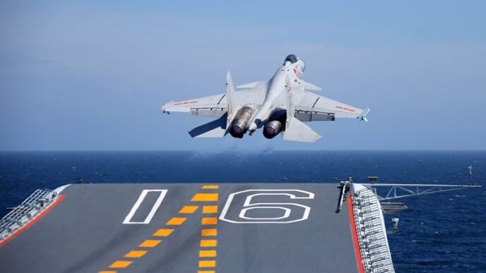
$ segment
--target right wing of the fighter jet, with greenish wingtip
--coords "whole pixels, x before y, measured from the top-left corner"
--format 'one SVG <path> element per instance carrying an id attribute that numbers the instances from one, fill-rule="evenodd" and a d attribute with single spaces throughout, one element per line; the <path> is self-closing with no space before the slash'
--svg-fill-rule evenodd
<path id="1" fill-rule="evenodd" d="M 334 119 L 366 119 L 369 109 L 360 109 L 311 92 L 301 93 L 295 105 L 300 121 L 333 121 Z"/>

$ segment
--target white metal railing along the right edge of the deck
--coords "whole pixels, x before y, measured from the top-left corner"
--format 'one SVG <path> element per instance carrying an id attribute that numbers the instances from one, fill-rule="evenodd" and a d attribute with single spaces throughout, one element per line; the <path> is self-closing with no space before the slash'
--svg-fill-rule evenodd
<path id="1" fill-rule="evenodd" d="M 352 211 L 364 272 L 395 272 L 380 210 L 372 190 L 364 188 L 355 193 Z"/>

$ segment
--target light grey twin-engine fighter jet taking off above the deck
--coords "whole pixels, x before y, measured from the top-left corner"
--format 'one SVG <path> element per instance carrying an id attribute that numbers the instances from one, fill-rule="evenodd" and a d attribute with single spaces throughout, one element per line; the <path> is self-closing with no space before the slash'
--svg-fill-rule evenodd
<path id="1" fill-rule="evenodd" d="M 308 92 L 321 88 L 302 79 L 304 70 L 304 61 L 290 54 L 270 80 L 239 85 L 239 91 L 235 91 L 228 71 L 225 94 L 171 101 L 162 105 L 162 111 L 216 119 L 189 131 L 193 138 L 223 138 L 227 133 L 243 138 L 263 128 L 263 136 L 268 139 L 280 133 L 284 140 L 315 142 L 321 135 L 304 122 L 336 118 L 367 121 L 369 108 L 359 109 Z"/>

